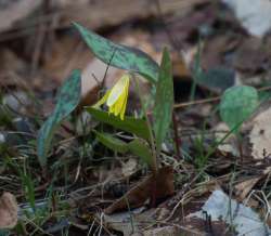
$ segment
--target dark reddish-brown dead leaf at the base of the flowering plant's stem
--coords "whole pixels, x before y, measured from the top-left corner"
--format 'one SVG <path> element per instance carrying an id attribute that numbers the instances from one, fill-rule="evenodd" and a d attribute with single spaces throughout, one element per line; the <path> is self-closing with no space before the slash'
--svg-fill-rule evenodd
<path id="1" fill-rule="evenodd" d="M 115 211 L 125 210 L 127 209 L 127 202 L 129 202 L 130 208 L 143 206 L 147 199 L 152 198 L 155 185 L 157 186 L 156 199 L 162 199 L 173 194 L 173 171 L 171 167 L 167 166 L 160 168 L 156 179 L 154 175 L 147 176 L 145 180 L 126 193 L 125 196 L 106 208 L 105 213 L 111 214 Z"/>

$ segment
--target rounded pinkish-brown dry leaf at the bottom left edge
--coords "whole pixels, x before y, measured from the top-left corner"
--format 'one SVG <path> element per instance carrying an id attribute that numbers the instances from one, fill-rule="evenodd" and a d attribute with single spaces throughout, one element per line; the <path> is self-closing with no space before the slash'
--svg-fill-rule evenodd
<path id="1" fill-rule="evenodd" d="M 18 207 L 15 197 L 3 193 L 0 198 L 0 228 L 12 228 L 17 224 Z"/>

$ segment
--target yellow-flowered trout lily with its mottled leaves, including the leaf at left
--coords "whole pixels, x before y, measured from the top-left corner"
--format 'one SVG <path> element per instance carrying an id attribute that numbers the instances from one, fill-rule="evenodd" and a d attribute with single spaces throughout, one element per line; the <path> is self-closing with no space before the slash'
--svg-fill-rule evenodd
<path id="1" fill-rule="evenodd" d="M 164 50 L 162 63 L 158 65 L 150 55 L 138 49 L 116 44 L 79 24 L 74 25 L 98 58 L 109 66 L 127 70 L 127 74 L 124 74 L 96 104 L 87 107 L 86 110 L 92 119 L 100 121 L 99 123 L 106 123 L 114 127 L 115 130 L 130 133 L 130 139 L 124 141 L 112 131 L 111 133 L 105 132 L 103 126 L 99 126 L 99 123 L 92 130 L 95 139 L 115 153 L 129 152 L 139 156 L 154 173 L 157 173 L 159 167 L 157 157 L 159 157 L 162 143 L 170 127 L 173 106 L 172 69 L 168 51 Z M 145 104 L 150 103 L 143 101 L 140 94 L 137 74 L 149 80 L 155 88 L 156 92 L 152 95 L 154 100 L 152 103 L 154 107 L 151 110 L 152 119 L 150 119 L 150 110 L 145 108 Z M 142 119 L 125 115 L 131 79 L 134 79 L 137 83 L 144 114 Z M 59 92 L 54 112 L 39 131 L 37 154 L 44 172 L 47 171 L 47 158 L 50 156 L 50 148 L 54 143 L 52 142 L 53 134 L 61 122 L 79 105 L 81 71 L 74 70 Z M 103 104 L 107 106 L 107 112 L 101 109 Z"/>

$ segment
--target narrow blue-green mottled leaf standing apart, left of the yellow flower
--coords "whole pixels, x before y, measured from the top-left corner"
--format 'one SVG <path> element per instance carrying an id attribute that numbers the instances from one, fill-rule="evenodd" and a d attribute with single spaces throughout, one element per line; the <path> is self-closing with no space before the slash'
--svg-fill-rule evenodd
<path id="1" fill-rule="evenodd" d="M 47 154 L 55 129 L 77 107 L 81 93 L 81 74 L 75 69 L 62 86 L 57 94 L 54 112 L 38 133 L 37 152 L 41 167 L 47 165 Z"/>

